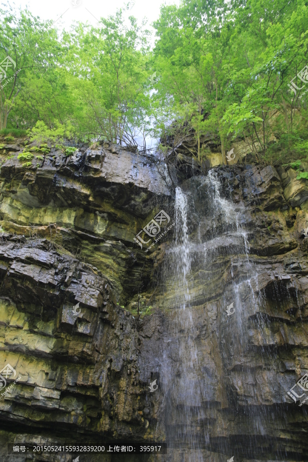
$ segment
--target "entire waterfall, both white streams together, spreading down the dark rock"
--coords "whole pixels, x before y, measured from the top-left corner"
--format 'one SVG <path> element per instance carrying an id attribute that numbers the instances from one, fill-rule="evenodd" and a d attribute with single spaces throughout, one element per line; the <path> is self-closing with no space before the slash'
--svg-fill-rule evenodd
<path id="1" fill-rule="evenodd" d="M 176 451 L 172 460 L 201 462 L 213 451 L 231 458 L 228 421 L 233 419 L 247 438 L 239 437 L 239 453 L 248 456 L 258 447 L 264 424 L 271 421 L 277 429 L 272 414 L 254 411 L 263 396 L 256 395 L 254 368 L 244 363 L 245 358 L 254 363 L 247 325 L 266 328 L 262 316 L 258 318 L 263 300 L 260 292 L 255 295 L 258 274 L 249 258 L 245 209 L 221 196 L 213 172 L 195 177 L 187 190 L 176 188 L 176 238 L 162 278 L 170 333 L 160 368 L 166 440 Z M 238 394 L 237 408 L 226 389 Z M 215 442 L 213 435 L 225 433 L 231 439 Z"/>

